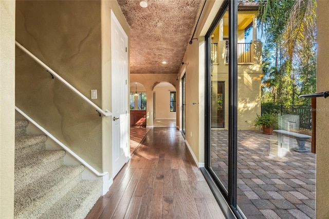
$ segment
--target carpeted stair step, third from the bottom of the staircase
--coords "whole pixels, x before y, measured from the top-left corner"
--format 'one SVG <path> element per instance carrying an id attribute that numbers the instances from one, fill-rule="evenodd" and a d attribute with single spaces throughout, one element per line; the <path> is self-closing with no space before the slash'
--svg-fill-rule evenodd
<path id="1" fill-rule="evenodd" d="M 40 151 L 15 159 L 15 191 L 63 165 L 64 150 Z"/>

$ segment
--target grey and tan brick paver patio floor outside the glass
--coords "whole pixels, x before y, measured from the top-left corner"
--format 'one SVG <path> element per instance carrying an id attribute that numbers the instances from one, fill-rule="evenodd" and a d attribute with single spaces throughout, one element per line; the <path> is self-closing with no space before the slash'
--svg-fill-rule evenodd
<path id="1" fill-rule="evenodd" d="M 227 188 L 228 133 L 211 135 L 212 170 Z M 237 205 L 247 218 L 315 218 L 316 155 L 294 150 L 270 155 L 278 147 L 276 135 L 239 131 L 237 138 Z M 284 143 L 297 147 L 293 138 Z"/>

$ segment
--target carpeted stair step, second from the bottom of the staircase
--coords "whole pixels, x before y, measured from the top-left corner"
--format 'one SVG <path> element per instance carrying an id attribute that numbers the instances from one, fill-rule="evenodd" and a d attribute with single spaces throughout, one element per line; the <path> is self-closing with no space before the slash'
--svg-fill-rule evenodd
<path id="1" fill-rule="evenodd" d="M 79 185 L 82 165 L 61 166 L 15 192 L 14 217 L 38 218 L 68 191 Z M 59 218 L 50 216 L 49 218 Z"/>

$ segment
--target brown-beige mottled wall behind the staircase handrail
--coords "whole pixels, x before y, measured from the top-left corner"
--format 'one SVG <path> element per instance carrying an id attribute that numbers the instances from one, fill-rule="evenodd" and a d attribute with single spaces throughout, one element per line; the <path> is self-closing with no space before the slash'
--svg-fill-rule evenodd
<path id="1" fill-rule="evenodd" d="M 17 1 L 16 40 L 101 105 L 101 2 Z M 102 171 L 102 118 L 16 49 L 16 105 Z"/>

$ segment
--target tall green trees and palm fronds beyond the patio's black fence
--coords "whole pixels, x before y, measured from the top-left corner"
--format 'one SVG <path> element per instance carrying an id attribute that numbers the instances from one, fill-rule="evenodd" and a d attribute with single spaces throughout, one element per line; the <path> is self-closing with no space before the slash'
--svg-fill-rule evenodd
<path id="1" fill-rule="evenodd" d="M 316 90 L 316 1 L 262 0 L 262 102 L 308 104 Z"/>

